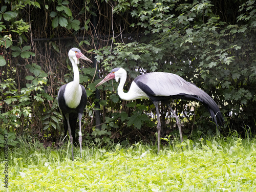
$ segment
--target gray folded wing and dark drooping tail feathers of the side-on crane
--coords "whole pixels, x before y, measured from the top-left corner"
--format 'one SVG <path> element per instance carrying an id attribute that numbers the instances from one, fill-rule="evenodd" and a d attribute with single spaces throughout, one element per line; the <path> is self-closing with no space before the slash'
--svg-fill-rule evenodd
<path id="1" fill-rule="evenodd" d="M 195 84 L 187 82 L 178 75 L 163 72 L 146 73 L 136 77 L 134 82 L 151 99 L 157 100 L 159 97 L 159 100 L 164 100 L 164 97 L 168 97 L 201 101 L 209 110 L 216 124 L 215 116 L 219 119 L 220 124 L 224 122 L 217 103 L 207 93 L 195 86 Z"/>

